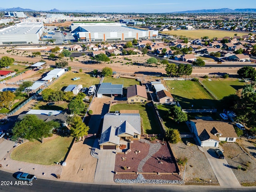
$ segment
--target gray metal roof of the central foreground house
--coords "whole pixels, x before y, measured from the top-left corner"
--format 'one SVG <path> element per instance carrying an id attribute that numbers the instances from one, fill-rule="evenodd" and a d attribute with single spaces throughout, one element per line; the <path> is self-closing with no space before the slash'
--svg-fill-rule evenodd
<path id="1" fill-rule="evenodd" d="M 119 129 L 120 130 L 119 130 Z M 134 129 L 133 129 L 134 128 Z M 140 129 L 140 114 L 114 114 L 114 113 L 107 113 L 104 115 L 103 125 L 102 125 L 102 134 L 100 137 L 100 144 L 106 142 L 116 143 L 120 138 L 116 135 L 122 134 L 127 132 L 128 134 L 133 135 L 141 134 Z M 116 129 L 118 129 L 116 131 Z M 132 133 L 133 132 L 133 133 Z M 111 134 L 111 136 L 110 136 Z"/>

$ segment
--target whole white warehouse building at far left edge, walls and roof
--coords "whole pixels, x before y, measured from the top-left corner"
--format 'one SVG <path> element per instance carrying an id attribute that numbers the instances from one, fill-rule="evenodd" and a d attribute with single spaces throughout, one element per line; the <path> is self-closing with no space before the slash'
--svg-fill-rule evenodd
<path id="1" fill-rule="evenodd" d="M 22 22 L 0 30 L 0 44 L 38 43 L 43 32 L 42 22 Z"/>

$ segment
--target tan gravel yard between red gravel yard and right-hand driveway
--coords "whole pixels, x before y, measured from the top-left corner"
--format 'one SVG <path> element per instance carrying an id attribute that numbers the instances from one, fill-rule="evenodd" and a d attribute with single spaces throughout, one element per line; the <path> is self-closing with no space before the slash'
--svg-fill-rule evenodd
<path id="1" fill-rule="evenodd" d="M 191 143 L 190 146 L 185 144 L 186 140 Z M 212 183 L 218 182 L 210 163 L 204 153 L 198 149 L 194 139 L 184 138 L 182 142 L 171 144 L 171 149 L 176 159 L 188 158 L 184 179 L 186 182 L 208 183 L 210 180 Z M 180 166 L 180 172 L 181 178 L 183 178 L 184 166 Z"/>

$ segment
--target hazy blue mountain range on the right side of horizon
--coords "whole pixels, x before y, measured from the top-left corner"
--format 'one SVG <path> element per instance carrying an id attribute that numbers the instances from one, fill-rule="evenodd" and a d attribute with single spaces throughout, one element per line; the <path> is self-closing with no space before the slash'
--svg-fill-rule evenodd
<path id="1" fill-rule="evenodd" d="M 202 10 L 187 10 L 187 11 L 178 11 L 171 13 L 256 13 L 256 9 L 246 8 L 246 9 L 202 9 Z"/>

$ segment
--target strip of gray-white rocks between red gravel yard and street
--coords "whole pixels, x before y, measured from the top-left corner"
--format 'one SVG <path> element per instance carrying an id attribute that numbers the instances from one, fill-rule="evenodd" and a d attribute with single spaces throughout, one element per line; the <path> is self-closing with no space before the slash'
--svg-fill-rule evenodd
<path id="1" fill-rule="evenodd" d="M 145 179 L 142 174 L 138 174 L 136 179 L 115 179 L 116 183 L 124 184 L 184 184 L 182 180 L 160 180 L 160 179 Z"/>

